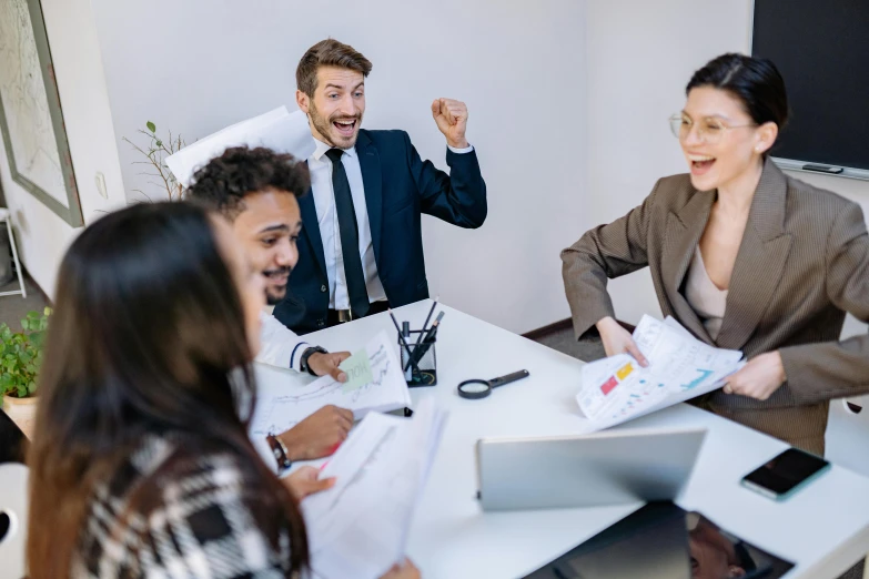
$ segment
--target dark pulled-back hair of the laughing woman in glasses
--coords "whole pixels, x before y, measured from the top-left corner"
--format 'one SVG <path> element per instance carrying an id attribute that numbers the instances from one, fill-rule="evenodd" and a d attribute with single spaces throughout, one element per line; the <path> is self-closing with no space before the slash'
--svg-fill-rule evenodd
<path id="1" fill-rule="evenodd" d="M 757 124 L 772 122 L 781 130 L 788 122 L 785 79 L 769 59 L 721 54 L 694 73 L 685 88 L 685 94 L 699 87 L 714 87 L 729 92 L 739 99 Z"/>

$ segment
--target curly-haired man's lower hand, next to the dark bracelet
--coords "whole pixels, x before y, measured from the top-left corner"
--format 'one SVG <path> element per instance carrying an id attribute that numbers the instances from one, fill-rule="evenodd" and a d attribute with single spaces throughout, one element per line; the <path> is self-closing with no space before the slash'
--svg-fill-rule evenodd
<path id="1" fill-rule="evenodd" d="M 332 455 L 352 427 L 353 413 L 330 404 L 277 438 L 286 446 L 291 461 L 313 460 Z"/>

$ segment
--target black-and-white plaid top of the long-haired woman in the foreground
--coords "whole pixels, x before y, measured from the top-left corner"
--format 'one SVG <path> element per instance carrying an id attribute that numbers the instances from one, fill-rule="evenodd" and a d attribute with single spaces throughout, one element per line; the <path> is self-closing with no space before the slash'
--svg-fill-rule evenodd
<path id="1" fill-rule="evenodd" d="M 198 446 L 151 437 L 94 490 L 71 578 L 292 577 L 286 525 L 262 520 L 276 516 L 262 484 L 236 456 Z M 281 529 L 276 549 L 263 522 Z"/>

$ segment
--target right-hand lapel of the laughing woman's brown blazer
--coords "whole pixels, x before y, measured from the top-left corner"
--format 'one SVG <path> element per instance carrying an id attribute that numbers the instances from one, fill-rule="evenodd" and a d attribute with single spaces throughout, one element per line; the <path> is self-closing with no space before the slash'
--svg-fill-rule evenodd
<path id="1" fill-rule="evenodd" d="M 717 341 L 723 348 L 745 346 L 781 278 L 791 244 L 791 235 L 785 231 L 787 191 L 785 174 L 767 160 L 730 276 Z"/>

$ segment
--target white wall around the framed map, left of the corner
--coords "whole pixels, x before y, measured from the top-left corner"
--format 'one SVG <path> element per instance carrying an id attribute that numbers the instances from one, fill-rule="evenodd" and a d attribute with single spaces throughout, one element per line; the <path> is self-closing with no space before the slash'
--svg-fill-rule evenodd
<path id="1" fill-rule="evenodd" d="M 82 213 L 90 223 L 125 203 L 97 30 L 88 0 L 42 0 L 42 11 Z M 108 200 L 97 192 L 98 171 L 105 175 Z M 33 280 L 52 297 L 63 252 L 80 230 L 69 226 L 12 181 L 2 140 L 0 180 L 12 211 L 21 258 Z"/>

